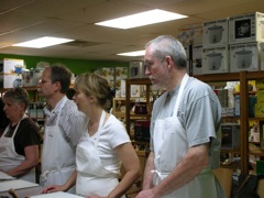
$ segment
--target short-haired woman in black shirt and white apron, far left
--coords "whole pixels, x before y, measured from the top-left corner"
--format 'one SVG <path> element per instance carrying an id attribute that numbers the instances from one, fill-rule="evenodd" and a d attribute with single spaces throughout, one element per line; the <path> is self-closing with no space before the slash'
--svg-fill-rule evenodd
<path id="1" fill-rule="evenodd" d="M 10 124 L 0 138 L 0 170 L 35 183 L 34 167 L 38 163 L 41 136 L 36 124 L 25 114 L 28 92 L 22 88 L 10 89 L 4 94 L 3 101 Z M 24 154 L 21 154 L 22 151 L 18 153 L 18 147 L 22 147 Z"/>

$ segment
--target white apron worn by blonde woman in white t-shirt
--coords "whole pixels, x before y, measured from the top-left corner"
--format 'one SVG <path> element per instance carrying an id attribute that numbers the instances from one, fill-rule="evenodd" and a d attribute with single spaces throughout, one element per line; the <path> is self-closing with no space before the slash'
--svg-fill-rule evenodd
<path id="1" fill-rule="evenodd" d="M 76 151 L 76 166 L 78 170 L 76 194 L 80 196 L 108 196 L 119 184 L 119 173 L 108 170 L 101 164 L 98 153 L 98 143 L 106 118 L 102 111 L 98 131 L 92 140 L 87 132 L 82 133 Z"/>

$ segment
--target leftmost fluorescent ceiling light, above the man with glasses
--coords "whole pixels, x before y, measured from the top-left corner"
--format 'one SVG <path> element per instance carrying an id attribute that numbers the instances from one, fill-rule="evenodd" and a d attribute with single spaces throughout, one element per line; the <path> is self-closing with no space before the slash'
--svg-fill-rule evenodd
<path id="1" fill-rule="evenodd" d="M 74 40 L 45 36 L 45 37 L 40 37 L 40 38 L 36 38 L 36 40 L 31 40 L 31 41 L 28 41 L 28 42 L 23 42 L 23 43 L 18 43 L 18 44 L 14 44 L 12 46 L 43 48 L 43 47 L 47 47 L 47 46 L 52 46 L 52 45 L 58 45 L 58 44 L 62 44 L 62 43 L 72 42 L 72 41 L 74 41 Z"/>

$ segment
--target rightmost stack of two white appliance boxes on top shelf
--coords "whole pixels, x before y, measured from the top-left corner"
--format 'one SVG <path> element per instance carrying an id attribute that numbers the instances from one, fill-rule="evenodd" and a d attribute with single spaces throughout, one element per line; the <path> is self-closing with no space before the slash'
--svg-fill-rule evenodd
<path id="1" fill-rule="evenodd" d="M 231 73 L 260 70 L 261 42 L 264 42 L 264 14 L 260 12 L 230 18 L 229 44 Z"/>

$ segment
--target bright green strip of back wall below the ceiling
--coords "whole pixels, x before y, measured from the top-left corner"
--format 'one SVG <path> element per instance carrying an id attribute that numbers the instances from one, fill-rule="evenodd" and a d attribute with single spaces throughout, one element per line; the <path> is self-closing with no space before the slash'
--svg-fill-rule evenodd
<path id="1" fill-rule="evenodd" d="M 41 56 L 23 56 L 0 54 L 0 58 L 18 58 L 24 59 L 26 68 L 35 68 L 40 62 L 47 62 L 50 64 L 61 63 L 66 65 L 75 75 L 79 75 L 86 72 L 94 72 L 101 67 L 129 67 L 127 62 L 112 62 L 112 61 L 85 61 L 85 59 L 69 59 L 69 58 L 52 58 Z"/>

